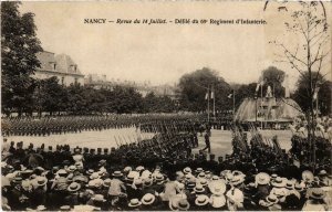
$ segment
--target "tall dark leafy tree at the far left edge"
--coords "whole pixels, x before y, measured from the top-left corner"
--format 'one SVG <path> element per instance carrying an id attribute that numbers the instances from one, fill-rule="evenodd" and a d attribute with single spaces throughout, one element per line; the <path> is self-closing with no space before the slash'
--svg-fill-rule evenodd
<path id="1" fill-rule="evenodd" d="M 1 100 L 2 110 L 19 116 L 32 105 L 31 75 L 40 66 L 35 54 L 42 51 L 35 36 L 33 13 L 20 14 L 19 2 L 1 3 Z"/>

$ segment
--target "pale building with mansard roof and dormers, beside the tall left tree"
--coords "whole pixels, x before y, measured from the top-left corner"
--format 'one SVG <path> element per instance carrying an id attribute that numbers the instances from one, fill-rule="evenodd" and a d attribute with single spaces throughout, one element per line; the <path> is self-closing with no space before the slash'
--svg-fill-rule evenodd
<path id="1" fill-rule="evenodd" d="M 39 80 L 56 76 L 59 84 L 70 86 L 71 84 L 84 85 L 84 75 L 79 66 L 66 54 L 55 55 L 52 52 L 39 52 L 37 54 L 41 66 L 35 70 L 33 77 Z"/>

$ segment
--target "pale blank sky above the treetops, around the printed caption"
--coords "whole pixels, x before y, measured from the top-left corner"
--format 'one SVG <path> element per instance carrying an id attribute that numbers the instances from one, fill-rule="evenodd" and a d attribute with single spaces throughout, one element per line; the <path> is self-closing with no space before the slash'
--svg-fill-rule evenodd
<path id="1" fill-rule="evenodd" d="M 273 63 L 271 49 L 276 46 L 268 44 L 282 35 L 282 20 L 289 13 L 278 12 L 278 3 L 270 3 L 263 12 L 263 4 L 259 1 L 23 2 L 21 12 L 35 13 L 37 34 L 45 51 L 69 54 L 85 75 L 106 74 L 107 80 L 164 84 L 178 82 L 183 74 L 207 66 L 218 71 L 227 82 L 250 83 L 258 81 L 263 68 L 274 65 L 286 71 L 293 78 L 291 82 L 295 81 L 295 71 Z M 84 23 L 84 19 L 95 18 L 263 19 L 268 24 Z"/>

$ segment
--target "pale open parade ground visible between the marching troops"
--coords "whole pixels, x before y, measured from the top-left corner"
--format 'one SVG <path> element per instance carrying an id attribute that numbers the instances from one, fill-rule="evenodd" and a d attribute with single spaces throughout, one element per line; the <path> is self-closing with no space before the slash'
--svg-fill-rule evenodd
<path id="1" fill-rule="evenodd" d="M 279 144 L 282 149 L 287 151 L 291 148 L 291 131 L 290 130 L 261 130 L 263 138 L 271 139 L 274 135 L 278 136 Z M 107 129 L 102 131 L 82 131 L 77 134 L 61 134 L 50 136 L 11 136 L 8 137 L 9 141 L 23 141 L 24 147 L 28 147 L 30 142 L 34 147 L 40 147 L 42 144 L 52 146 L 56 145 L 70 145 L 72 148 L 86 147 L 86 148 L 112 148 L 117 147 L 116 142 L 129 144 L 137 140 L 137 137 L 142 139 L 152 138 L 154 134 L 146 134 L 136 131 L 136 128 L 121 128 L 121 129 Z M 232 152 L 231 145 L 232 135 L 229 130 L 211 130 L 211 153 L 216 156 L 230 155 Z M 250 140 L 250 132 L 248 132 L 248 140 Z M 205 147 L 204 137 L 198 134 L 198 148 L 193 149 L 196 153 L 199 149 Z"/>

